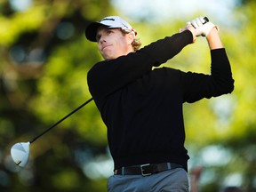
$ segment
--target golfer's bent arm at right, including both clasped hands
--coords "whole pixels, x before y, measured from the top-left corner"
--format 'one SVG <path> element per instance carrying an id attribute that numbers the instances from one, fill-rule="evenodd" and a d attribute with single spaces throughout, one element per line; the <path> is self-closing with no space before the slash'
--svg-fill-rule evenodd
<path id="1" fill-rule="evenodd" d="M 186 84 L 184 100 L 195 102 L 203 98 L 217 97 L 230 93 L 234 89 L 234 79 L 228 55 L 221 43 L 219 28 L 212 22 L 203 23 L 202 18 L 196 18 L 187 23 L 183 30 L 190 30 L 196 41 L 196 36 L 205 36 L 211 50 L 211 75 L 187 73 L 184 74 Z M 184 86 L 185 87 L 185 86 Z"/>

